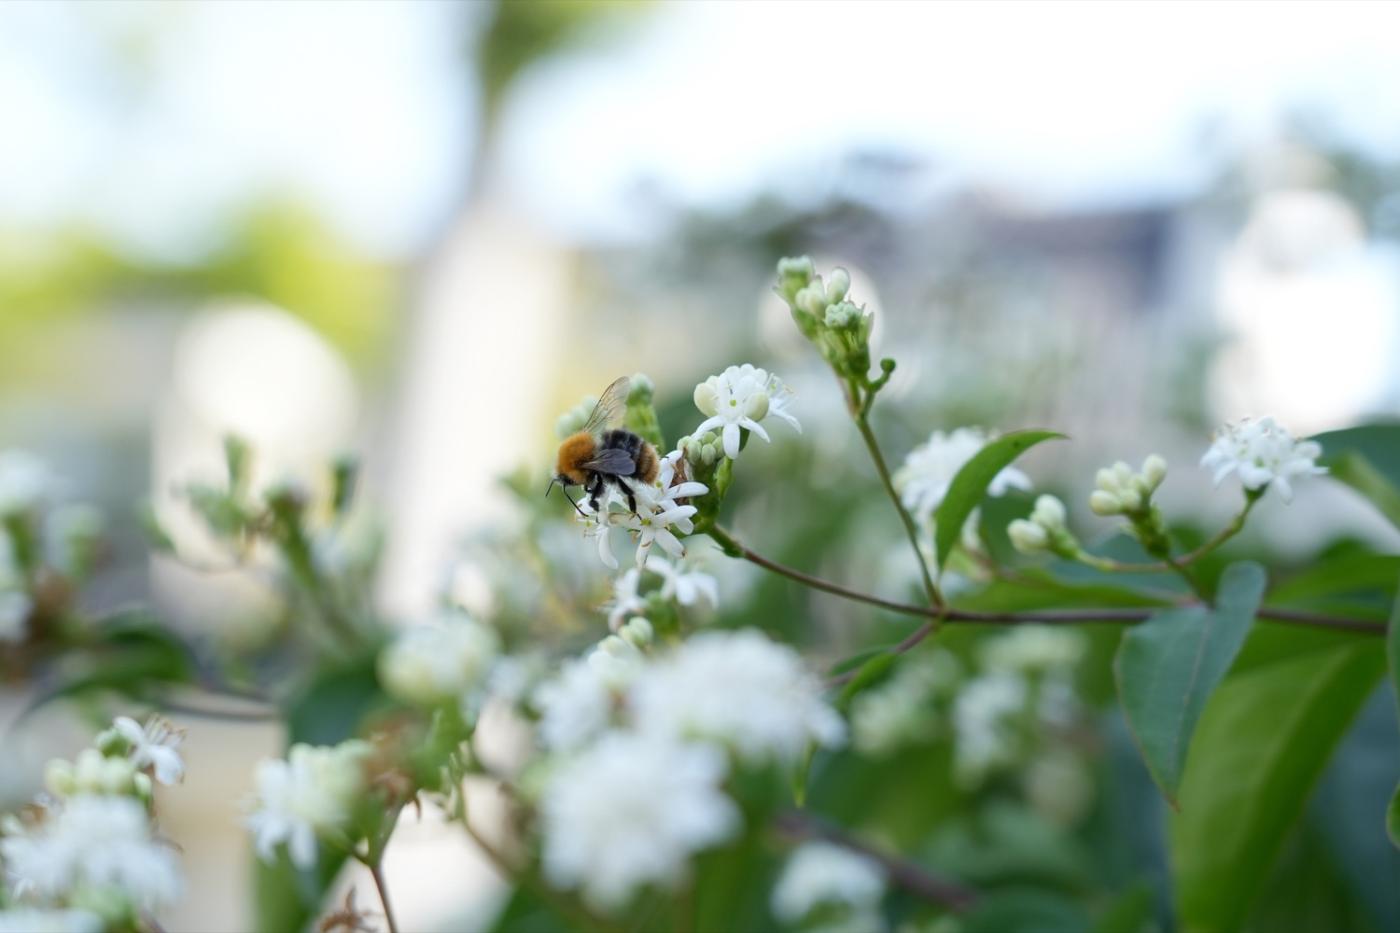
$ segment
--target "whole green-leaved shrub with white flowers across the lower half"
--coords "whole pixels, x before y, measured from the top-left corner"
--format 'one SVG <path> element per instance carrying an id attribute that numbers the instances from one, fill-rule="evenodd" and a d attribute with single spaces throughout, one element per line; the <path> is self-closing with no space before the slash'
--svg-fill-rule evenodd
<path id="1" fill-rule="evenodd" d="M 258 765 L 244 815 L 265 929 L 396 930 L 384 852 L 400 820 L 431 813 L 510 885 L 483 929 L 1259 923 L 1271 878 L 1287 878 L 1280 849 L 1383 675 L 1400 559 L 1352 545 L 1266 570 L 1236 535 L 1260 503 L 1281 507 L 1329 472 L 1319 482 L 1400 520 L 1397 461 L 1376 455 L 1400 450 L 1400 429 L 1298 440 L 1267 417 L 1224 427 L 1201 465 L 1217 483 L 1238 475 L 1242 493 L 1210 535 L 1159 503 L 1162 457 L 1105 466 L 1085 502 L 1117 525 L 1105 538 L 1061 497 L 1032 495 L 1037 471 L 1021 458 L 1053 431 L 935 430 L 890 469 L 872 415 L 896 361 L 872 359 L 850 277 L 784 259 L 777 293 L 840 385 L 862 486 L 881 497 L 862 506 L 890 518 L 907 579 L 846 581 L 868 560 L 841 551 L 851 517 L 839 509 L 749 518 L 766 457 L 798 441 L 805 415 L 781 378 L 742 364 L 694 387 L 673 447 L 675 416 L 633 377 L 623 424 L 657 445 L 655 479 L 566 511 L 539 500 L 535 476 L 512 478 L 519 532 L 466 549 L 484 593 L 448 593 L 409 626 L 370 600 L 377 535 L 354 509 L 353 462 L 319 485 L 255 490 L 255 451 L 231 438 L 224 482 L 185 499 L 227 567 L 276 584 L 288 623 L 218 672 L 200 661 L 207 646 L 148 615 L 78 609 L 99 524 L 57 504 L 42 464 L 3 454 L 0 670 L 81 656 L 94 664 L 41 681 L 46 696 L 199 716 L 179 699 L 195 692 L 284 721 L 287 754 Z M 560 436 L 592 408 L 563 415 Z M 770 433 L 776 420 L 794 431 Z M 755 455 L 755 436 L 771 451 Z M 790 461 L 770 486 L 822 485 L 820 464 Z M 783 559 L 735 525 L 764 528 Z M 827 576 L 788 563 L 826 552 L 853 559 Z M 484 748 L 493 714 L 529 730 L 528 754 Z M 49 766 L 46 796 L 3 825 L 0 929 L 155 929 L 179 859 L 153 790 L 181 780 L 179 737 L 122 716 Z M 473 818 L 469 778 L 510 800 L 508 839 Z M 1148 780 L 1159 800 L 1141 793 Z M 326 892 L 350 860 L 378 899 L 336 911 Z"/>

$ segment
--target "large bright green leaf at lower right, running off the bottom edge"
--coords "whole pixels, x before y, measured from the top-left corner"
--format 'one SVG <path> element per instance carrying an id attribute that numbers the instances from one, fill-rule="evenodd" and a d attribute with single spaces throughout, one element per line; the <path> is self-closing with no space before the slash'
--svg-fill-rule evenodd
<path id="1" fill-rule="evenodd" d="M 1170 824 L 1182 929 L 1240 927 L 1383 668 L 1362 643 L 1257 667 L 1215 692 Z"/>

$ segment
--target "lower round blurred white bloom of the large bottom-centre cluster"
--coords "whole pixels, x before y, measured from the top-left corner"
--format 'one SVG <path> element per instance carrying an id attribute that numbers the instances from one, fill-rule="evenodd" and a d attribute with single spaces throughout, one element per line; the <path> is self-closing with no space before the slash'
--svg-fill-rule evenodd
<path id="1" fill-rule="evenodd" d="M 540 801 L 545 874 L 616 908 L 645 884 L 680 881 L 696 852 L 739 828 L 706 745 L 610 733 L 550 779 Z"/>

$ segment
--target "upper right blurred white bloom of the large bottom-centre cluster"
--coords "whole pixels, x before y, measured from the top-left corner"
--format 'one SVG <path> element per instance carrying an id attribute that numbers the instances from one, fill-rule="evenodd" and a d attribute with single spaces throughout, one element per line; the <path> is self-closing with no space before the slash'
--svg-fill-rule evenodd
<path id="1" fill-rule="evenodd" d="M 693 636 L 643 670 L 630 705 L 644 734 L 708 738 L 748 762 L 791 762 L 811 741 L 846 737 L 798 653 L 755 629 Z"/>

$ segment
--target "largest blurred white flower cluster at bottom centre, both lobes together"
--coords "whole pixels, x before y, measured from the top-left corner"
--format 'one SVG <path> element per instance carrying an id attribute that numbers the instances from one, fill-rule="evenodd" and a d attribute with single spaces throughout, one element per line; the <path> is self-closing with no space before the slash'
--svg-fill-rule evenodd
<path id="1" fill-rule="evenodd" d="M 734 835 L 731 759 L 792 763 L 844 738 L 820 681 L 756 630 L 703 632 L 657 658 L 609 636 L 535 699 L 542 741 L 567 752 L 543 789 L 545 870 L 602 908 L 676 883 Z"/>

